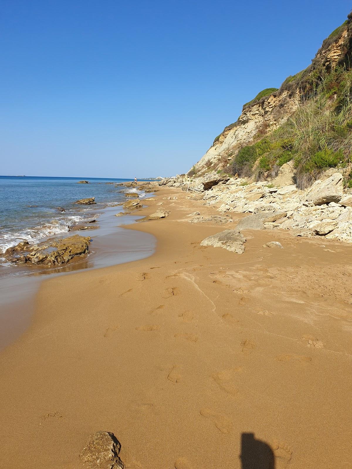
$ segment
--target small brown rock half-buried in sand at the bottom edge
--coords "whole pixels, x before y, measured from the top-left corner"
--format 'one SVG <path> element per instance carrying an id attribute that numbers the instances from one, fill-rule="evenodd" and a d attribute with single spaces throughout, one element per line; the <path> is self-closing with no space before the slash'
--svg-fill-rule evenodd
<path id="1" fill-rule="evenodd" d="M 79 457 L 90 469 L 123 469 L 120 450 L 121 444 L 114 433 L 97 431 L 90 436 Z"/>

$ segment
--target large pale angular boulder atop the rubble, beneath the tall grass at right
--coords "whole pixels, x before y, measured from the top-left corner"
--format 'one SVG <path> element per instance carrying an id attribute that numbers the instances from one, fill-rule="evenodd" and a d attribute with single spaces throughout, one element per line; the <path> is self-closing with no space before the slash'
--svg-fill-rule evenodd
<path id="1" fill-rule="evenodd" d="M 325 181 L 315 181 L 308 190 L 306 201 L 314 205 L 339 202 L 343 196 L 342 174 L 335 173 Z"/>

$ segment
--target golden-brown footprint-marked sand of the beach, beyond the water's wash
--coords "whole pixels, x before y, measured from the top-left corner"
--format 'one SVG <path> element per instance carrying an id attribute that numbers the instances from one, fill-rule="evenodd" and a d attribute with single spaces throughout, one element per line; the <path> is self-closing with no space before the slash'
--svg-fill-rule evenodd
<path id="1" fill-rule="evenodd" d="M 279 231 L 245 232 L 242 255 L 201 247 L 235 223 L 190 224 L 218 213 L 175 189 L 138 214 L 169 195 L 167 219 L 132 227 L 153 256 L 43 282 L 1 353 L 0 467 L 82 468 L 105 430 L 125 468 L 351 468 L 352 247 Z M 275 464 L 253 465 L 245 433 Z"/>

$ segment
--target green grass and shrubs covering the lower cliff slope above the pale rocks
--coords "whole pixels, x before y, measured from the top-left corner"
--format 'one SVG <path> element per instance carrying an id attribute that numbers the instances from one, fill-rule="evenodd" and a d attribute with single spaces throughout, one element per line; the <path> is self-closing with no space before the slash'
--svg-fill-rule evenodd
<path id="1" fill-rule="evenodd" d="M 226 170 L 265 180 L 275 177 L 280 166 L 293 160 L 296 183 L 303 189 L 322 171 L 345 167 L 351 159 L 352 71 L 336 67 L 315 80 L 312 92 L 303 97 L 284 125 L 241 148 Z"/>

